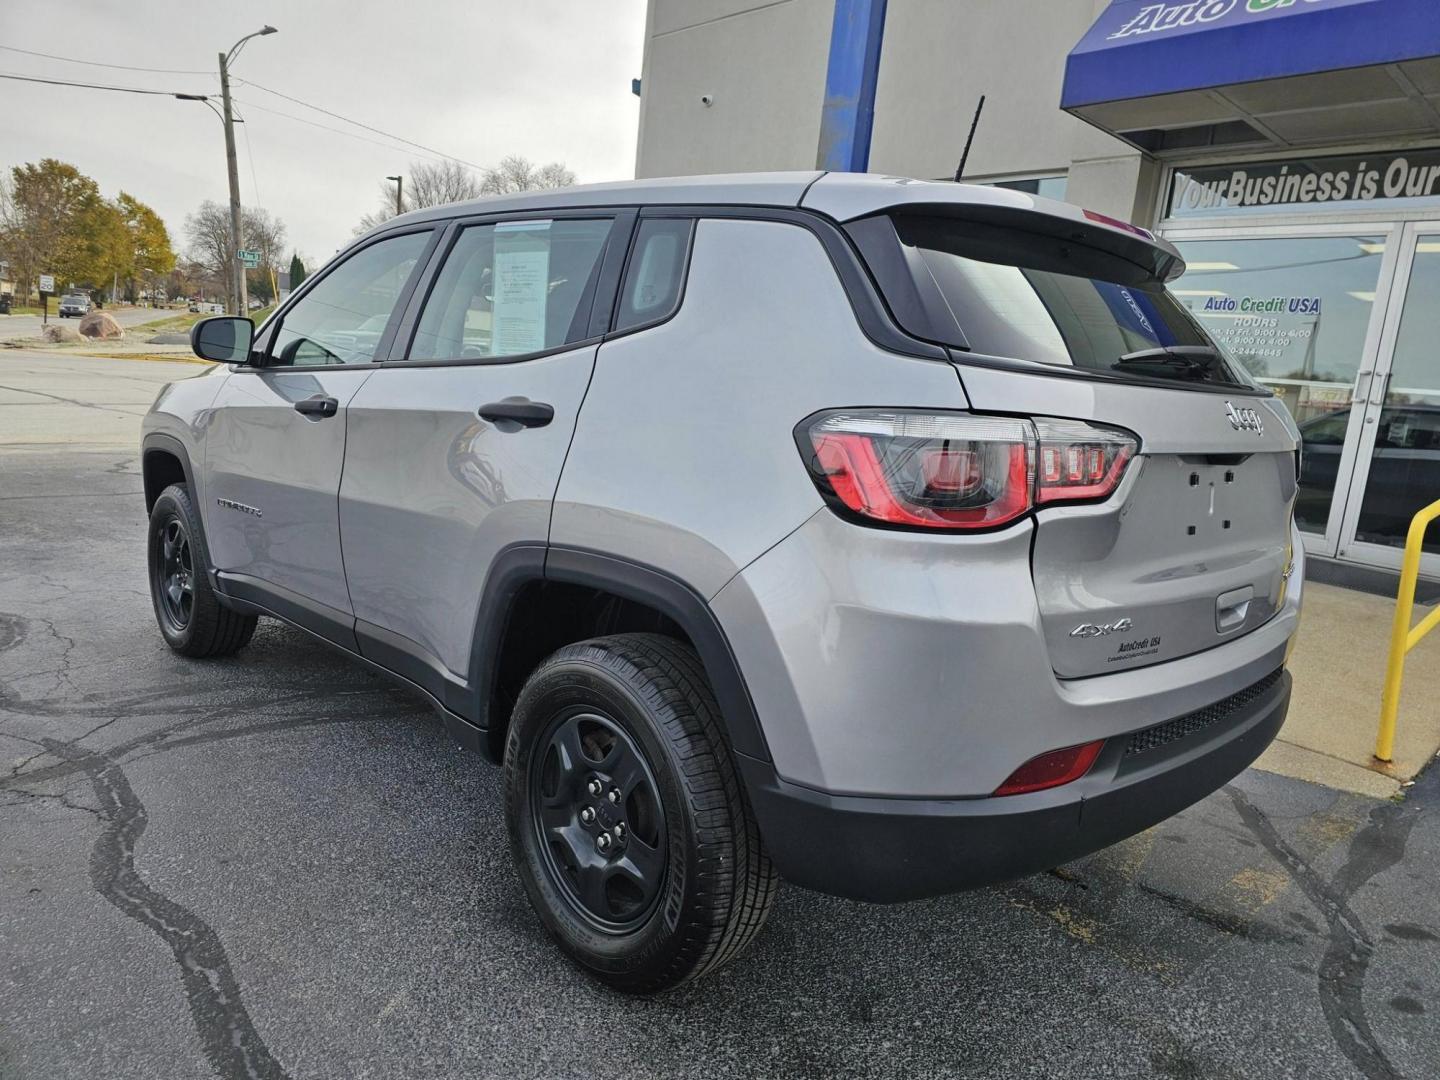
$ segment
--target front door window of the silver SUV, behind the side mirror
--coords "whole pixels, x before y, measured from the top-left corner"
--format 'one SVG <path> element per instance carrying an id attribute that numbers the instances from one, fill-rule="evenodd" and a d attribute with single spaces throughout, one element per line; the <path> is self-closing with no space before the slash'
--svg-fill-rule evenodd
<path id="1" fill-rule="evenodd" d="M 285 312 L 271 346 L 271 366 L 374 360 L 390 312 L 429 242 L 429 232 L 392 236 L 361 248 L 330 271 Z"/>

